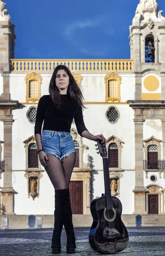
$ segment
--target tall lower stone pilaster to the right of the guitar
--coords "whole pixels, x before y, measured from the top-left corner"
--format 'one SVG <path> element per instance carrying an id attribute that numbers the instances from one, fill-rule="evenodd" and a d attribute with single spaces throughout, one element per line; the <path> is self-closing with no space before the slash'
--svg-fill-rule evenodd
<path id="1" fill-rule="evenodd" d="M 137 110 L 138 111 L 138 110 Z M 145 188 L 143 182 L 143 122 L 144 119 L 134 119 L 135 131 L 135 188 L 133 214 L 147 214 L 145 211 Z"/>

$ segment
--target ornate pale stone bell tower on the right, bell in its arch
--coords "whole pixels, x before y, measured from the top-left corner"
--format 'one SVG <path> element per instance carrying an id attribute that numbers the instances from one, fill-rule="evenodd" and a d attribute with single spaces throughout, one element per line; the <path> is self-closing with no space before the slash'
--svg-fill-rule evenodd
<path id="1" fill-rule="evenodd" d="M 165 17 L 159 11 L 157 0 L 140 0 L 129 29 L 131 59 L 137 76 L 135 100 L 141 100 L 141 74 L 153 70 L 158 76 L 164 76 L 165 70 Z M 161 100 L 165 100 L 164 90 L 165 78 Z"/>

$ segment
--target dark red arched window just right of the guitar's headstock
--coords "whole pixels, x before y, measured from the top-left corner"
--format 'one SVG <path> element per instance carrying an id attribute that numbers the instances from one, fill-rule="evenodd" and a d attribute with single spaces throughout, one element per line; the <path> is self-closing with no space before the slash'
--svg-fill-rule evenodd
<path id="1" fill-rule="evenodd" d="M 116 143 L 109 144 L 108 159 L 110 168 L 118 168 L 118 148 Z"/>

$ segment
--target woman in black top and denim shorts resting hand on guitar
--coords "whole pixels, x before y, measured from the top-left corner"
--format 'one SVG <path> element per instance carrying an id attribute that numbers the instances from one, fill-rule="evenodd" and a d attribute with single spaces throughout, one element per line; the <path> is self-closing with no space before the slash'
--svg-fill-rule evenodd
<path id="1" fill-rule="evenodd" d="M 76 160 L 70 128 L 73 118 L 78 134 L 89 140 L 105 142 L 102 134 L 92 135 L 84 125 L 83 95 L 70 70 L 59 65 L 50 80 L 49 94 L 40 98 L 35 123 L 39 160 L 55 189 L 52 253 L 61 253 L 61 233 L 67 234 L 67 253 L 76 253 L 69 183 Z M 42 123 L 44 120 L 43 128 Z M 41 136 L 42 130 L 42 136 Z"/>

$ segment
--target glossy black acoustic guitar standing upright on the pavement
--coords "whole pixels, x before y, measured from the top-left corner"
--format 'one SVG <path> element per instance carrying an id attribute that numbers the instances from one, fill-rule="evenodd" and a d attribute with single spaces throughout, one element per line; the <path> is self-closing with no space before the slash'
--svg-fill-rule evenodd
<path id="1" fill-rule="evenodd" d="M 89 244 L 97 253 L 113 254 L 127 247 L 129 234 L 121 220 L 122 204 L 117 197 L 111 195 L 106 144 L 97 141 L 96 146 L 103 157 L 105 195 L 102 194 L 90 204 L 93 223 L 89 232 Z"/>

